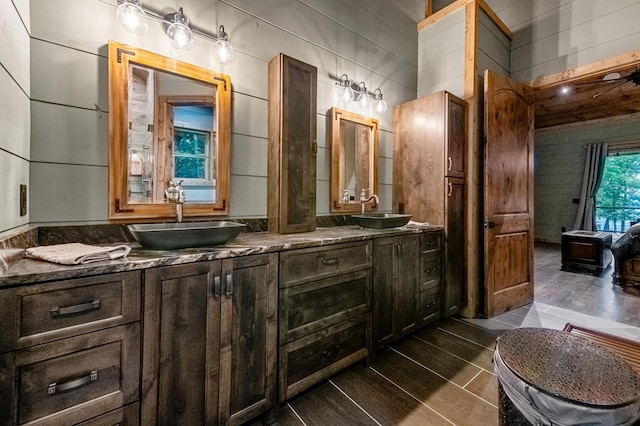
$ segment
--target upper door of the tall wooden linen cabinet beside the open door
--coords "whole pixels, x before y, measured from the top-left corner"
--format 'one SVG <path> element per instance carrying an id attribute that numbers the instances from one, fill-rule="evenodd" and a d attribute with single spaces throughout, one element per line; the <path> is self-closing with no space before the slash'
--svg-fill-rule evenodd
<path id="1" fill-rule="evenodd" d="M 465 166 L 465 128 L 466 128 L 466 106 L 465 101 L 453 96 L 451 93 L 443 92 L 445 96 L 445 119 L 446 119 L 446 145 L 447 158 L 445 174 L 451 177 L 464 177 Z"/>

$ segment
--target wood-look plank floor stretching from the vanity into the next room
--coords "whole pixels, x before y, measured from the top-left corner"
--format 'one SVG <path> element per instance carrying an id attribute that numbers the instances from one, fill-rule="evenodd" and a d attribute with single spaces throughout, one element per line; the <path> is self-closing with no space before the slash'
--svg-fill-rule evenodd
<path id="1" fill-rule="evenodd" d="M 279 425 L 497 425 L 495 339 L 567 322 L 640 340 L 640 297 L 602 276 L 560 271 L 558 245 L 535 252 L 535 302 L 491 319 L 451 318 L 379 351 L 284 404 Z"/>

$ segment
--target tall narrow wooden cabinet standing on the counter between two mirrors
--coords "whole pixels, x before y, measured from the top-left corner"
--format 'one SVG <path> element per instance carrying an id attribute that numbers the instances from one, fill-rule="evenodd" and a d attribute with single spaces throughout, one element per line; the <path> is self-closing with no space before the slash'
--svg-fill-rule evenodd
<path id="1" fill-rule="evenodd" d="M 269 62 L 267 216 L 279 234 L 316 228 L 317 69 L 279 54 Z"/>

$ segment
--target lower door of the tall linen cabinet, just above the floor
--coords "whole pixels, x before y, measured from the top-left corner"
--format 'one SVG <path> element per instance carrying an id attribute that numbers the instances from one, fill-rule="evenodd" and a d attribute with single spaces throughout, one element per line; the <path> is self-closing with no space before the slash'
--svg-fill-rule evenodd
<path id="1" fill-rule="evenodd" d="M 464 237 L 464 179 L 447 178 L 447 222 L 445 224 L 444 312 L 453 315 L 467 300 Z"/>

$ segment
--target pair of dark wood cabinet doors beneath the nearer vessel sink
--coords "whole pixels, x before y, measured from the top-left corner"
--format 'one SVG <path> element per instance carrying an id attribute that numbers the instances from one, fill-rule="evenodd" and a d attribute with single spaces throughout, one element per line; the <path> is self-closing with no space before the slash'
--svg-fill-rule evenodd
<path id="1" fill-rule="evenodd" d="M 145 272 L 142 424 L 241 424 L 275 407 L 277 259 Z"/>

